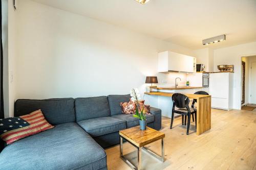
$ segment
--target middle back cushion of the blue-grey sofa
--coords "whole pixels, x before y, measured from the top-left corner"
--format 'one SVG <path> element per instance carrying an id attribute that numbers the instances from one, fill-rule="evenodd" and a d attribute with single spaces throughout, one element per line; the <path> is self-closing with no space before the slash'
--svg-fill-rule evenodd
<path id="1" fill-rule="evenodd" d="M 110 116 L 110 107 L 106 96 L 75 99 L 76 121 Z"/>

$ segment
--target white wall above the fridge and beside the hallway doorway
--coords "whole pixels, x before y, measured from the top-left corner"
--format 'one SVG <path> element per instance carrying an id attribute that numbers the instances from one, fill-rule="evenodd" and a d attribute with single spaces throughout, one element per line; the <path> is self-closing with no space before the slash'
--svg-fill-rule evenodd
<path id="1" fill-rule="evenodd" d="M 233 106 L 241 109 L 241 61 L 242 57 L 256 54 L 256 42 L 230 46 L 214 50 L 214 70 L 217 65 L 234 65 Z"/>

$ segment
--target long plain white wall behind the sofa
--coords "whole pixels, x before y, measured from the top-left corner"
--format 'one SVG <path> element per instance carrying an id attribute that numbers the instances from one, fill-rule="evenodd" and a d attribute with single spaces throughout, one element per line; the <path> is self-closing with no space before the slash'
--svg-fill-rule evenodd
<path id="1" fill-rule="evenodd" d="M 145 91 L 159 52 L 179 45 L 84 16 L 19 1 L 15 99 L 46 99 Z M 159 75 L 159 74 L 158 74 Z M 173 77 L 160 75 L 159 82 Z M 172 83 L 172 81 L 170 81 Z"/>

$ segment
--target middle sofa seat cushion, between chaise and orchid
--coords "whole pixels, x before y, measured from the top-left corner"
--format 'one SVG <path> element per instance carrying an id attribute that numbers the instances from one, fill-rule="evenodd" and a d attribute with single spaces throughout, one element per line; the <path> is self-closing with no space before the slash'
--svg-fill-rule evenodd
<path id="1" fill-rule="evenodd" d="M 82 120 L 78 124 L 93 137 L 126 129 L 125 120 L 110 116 Z"/>

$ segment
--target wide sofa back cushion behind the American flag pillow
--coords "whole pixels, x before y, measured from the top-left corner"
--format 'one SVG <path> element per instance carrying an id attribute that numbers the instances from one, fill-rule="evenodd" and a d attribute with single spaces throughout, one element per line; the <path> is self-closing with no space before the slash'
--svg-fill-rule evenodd
<path id="1" fill-rule="evenodd" d="M 18 99 L 14 105 L 14 116 L 22 116 L 41 109 L 46 120 L 52 125 L 75 122 L 74 101 L 73 98 L 46 100 Z"/>

